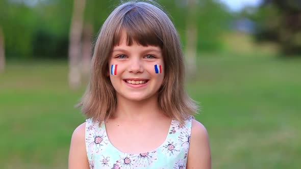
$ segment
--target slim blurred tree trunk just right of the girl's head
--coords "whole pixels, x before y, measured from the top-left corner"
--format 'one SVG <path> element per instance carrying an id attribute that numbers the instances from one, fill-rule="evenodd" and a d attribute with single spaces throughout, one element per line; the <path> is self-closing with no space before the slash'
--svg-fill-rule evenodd
<path id="1" fill-rule="evenodd" d="M 188 1 L 188 18 L 186 30 L 186 70 L 189 79 L 195 79 L 196 75 L 196 53 L 197 53 L 197 27 L 196 27 L 196 0 Z"/>

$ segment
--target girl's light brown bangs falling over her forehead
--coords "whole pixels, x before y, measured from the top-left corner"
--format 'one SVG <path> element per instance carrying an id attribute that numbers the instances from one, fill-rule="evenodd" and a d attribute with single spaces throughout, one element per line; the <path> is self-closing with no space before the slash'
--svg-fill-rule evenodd
<path id="1" fill-rule="evenodd" d="M 148 15 L 137 7 L 125 14 L 114 34 L 113 45 L 120 43 L 122 32 L 125 32 L 128 46 L 136 42 L 142 46 L 159 46 L 162 49 L 162 30 L 159 22 L 147 20 Z"/>

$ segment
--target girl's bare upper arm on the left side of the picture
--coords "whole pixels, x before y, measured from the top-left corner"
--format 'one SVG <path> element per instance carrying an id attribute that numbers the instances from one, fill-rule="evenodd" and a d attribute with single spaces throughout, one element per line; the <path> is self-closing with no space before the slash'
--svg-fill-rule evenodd
<path id="1" fill-rule="evenodd" d="M 81 124 L 72 134 L 68 160 L 69 169 L 89 168 L 85 143 L 85 127 L 86 123 Z"/>

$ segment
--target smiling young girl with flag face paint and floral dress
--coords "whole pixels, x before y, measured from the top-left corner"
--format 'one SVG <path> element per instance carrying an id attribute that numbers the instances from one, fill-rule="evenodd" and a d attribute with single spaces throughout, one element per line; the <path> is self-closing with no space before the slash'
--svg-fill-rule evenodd
<path id="1" fill-rule="evenodd" d="M 80 103 L 87 120 L 73 132 L 69 168 L 211 168 L 183 62 L 178 33 L 158 5 L 118 6 L 95 44 Z"/>

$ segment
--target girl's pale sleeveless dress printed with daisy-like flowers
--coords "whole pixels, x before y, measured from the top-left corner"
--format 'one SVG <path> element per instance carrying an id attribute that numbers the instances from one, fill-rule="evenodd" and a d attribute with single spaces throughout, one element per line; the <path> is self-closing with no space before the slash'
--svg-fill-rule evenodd
<path id="1" fill-rule="evenodd" d="M 87 119 L 85 139 L 90 169 L 184 169 L 187 164 L 191 121 L 192 116 L 185 124 L 172 119 L 167 137 L 161 146 L 153 151 L 130 154 L 120 152 L 110 143 L 104 122 L 99 127 L 99 121 L 93 123 L 92 119 Z"/>

